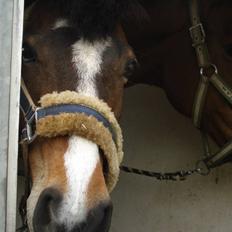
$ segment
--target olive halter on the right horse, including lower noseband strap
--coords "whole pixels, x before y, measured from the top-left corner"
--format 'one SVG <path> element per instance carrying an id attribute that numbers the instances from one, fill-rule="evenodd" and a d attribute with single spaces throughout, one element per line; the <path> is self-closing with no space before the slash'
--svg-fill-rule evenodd
<path id="1" fill-rule="evenodd" d="M 198 0 L 190 0 L 190 16 L 192 27 L 189 31 L 200 69 L 200 81 L 193 104 L 193 123 L 200 129 L 209 85 L 212 84 L 230 105 L 232 105 L 232 88 L 223 81 L 218 74 L 217 67 L 211 62 L 206 44 L 206 34 L 200 20 Z M 208 75 L 207 71 L 211 72 L 211 74 Z M 211 154 L 207 136 L 204 132 L 202 132 L 202 134 L 206 153 L 204 162 L 208 168 L 221 165 L 227 158 L 229 158 L 229 156 L 231 156 L 232 142 L 226 144 L 219 152 Z"/>

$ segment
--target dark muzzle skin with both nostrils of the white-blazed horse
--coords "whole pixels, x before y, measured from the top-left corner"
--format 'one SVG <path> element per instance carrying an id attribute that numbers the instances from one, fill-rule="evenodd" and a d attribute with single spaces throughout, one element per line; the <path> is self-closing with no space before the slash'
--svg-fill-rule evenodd
<path id="1" fill-rule="evenodd" d="M 65 224 L 57 224 L 55 215 L 59 211 L 59 206 L 63 200 L 62 194 L 54 188 L 45 189 L 39 197 L 34 216 L 34 232 L 108 232 L 112 216 L 112 203 L 102 202 L 91 209 L 86 220 L 69 228 Z"/>

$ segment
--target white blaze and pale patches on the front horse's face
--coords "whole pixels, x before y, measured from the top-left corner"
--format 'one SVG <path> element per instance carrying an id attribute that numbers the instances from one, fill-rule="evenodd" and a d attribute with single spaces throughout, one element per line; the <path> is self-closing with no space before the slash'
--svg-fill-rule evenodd
<path id="1" fill-rule="evenodd" d="M 67 21 L 59 19 L 53 29 L 66 27 Z M 88 42 L 83 39 L 72 46 L 72 62 L 78 75 L 76 91 L 87 96 L 98 97 L 96 76 L 101 73 L 104 51 L 111 45 L 111 39 Z M 51 212 L 53 220 L 71 230 L 84 222 L 89 213 L 88 186 L 91 177 L 100 162 L 99 148 L 91 141 L 79 136 L 71 136 L 68 149 L 64 154 L 64 166 L 67 178 L 67 191 L 58 212 Z M 41 170 L 42 172 L 42 170 Z M 33 183 L 28 200 L 28 222 L 31 231 L 34 209 L 39 195 L 46 188 L 43 175 Z"/>

